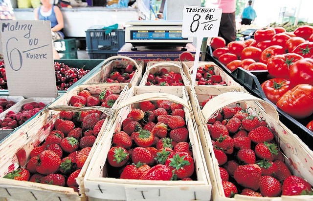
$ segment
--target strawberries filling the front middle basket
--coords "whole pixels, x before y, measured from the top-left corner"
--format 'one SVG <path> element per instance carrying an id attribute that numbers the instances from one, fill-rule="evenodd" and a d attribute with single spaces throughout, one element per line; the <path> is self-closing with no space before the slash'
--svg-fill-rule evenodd
<path id="1" fill-rule="evenodd" d="M 135 180 L 195 179 L 183 106 L 171 101 L 140 102 L 113 135 L 109 177 Z"/>

